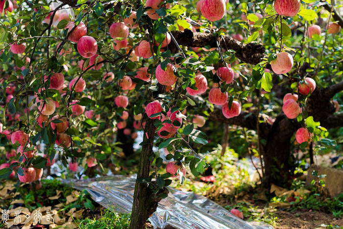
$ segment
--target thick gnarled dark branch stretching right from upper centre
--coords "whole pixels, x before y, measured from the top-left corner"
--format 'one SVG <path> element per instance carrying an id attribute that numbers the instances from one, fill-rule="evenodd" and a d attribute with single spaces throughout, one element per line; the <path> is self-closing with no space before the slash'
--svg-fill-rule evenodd
<path id="1" fill-rule="evenodd" d="M 189 29 L 185 31 L 171 31 L 175 40 L 179 45 L 187 47 L 205 47 L 217 48 L 217 41 L 220 42 L 222 48 L 236 51 L 237 58 L 245 63 L 257 64 L 264 57 L 266 51 L 262 45 L 248 43 L 243 44 L 230 36 L 216 37 L 211 33 L 192 32 Z M 174 43 L 170 44 L 171 51 L 176 52 L 177 47 Z"/>

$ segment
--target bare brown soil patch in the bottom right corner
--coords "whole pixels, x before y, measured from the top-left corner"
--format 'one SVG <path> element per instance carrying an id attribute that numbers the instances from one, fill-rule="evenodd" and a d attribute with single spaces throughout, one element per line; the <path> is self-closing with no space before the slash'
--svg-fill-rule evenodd
<path id="1" fill-rule="evenodd" d="M 343 219 L 336 219 L 332 214 L 305 209 L 290 211 L 275 211 L 279 222 L 275 229 L 316 229 L 325 228 L 320 225 L 332 225 L 343 228 Z"/>

